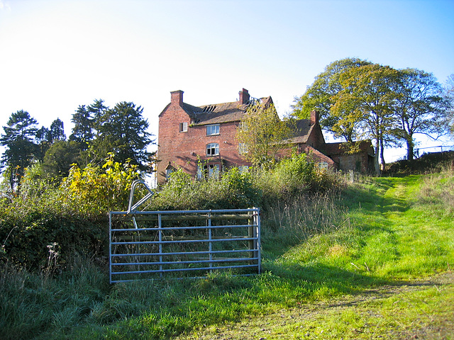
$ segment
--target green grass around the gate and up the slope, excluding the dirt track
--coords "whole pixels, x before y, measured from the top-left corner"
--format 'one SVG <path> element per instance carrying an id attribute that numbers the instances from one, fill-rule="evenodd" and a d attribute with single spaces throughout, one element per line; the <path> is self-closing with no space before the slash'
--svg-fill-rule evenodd
<path id="1" fill-rule="evenodd" d="M 263 209 L 264 273 L 253 278 L 211 273 L 109 286 L 105 267 L 92 259 L 74 256 L 59 274 L 52 261 L 34 273 L 6 263 L 0 339 L 170 339 L 444 271 L 454 264 L 453 216 L 445 212 L 452 184 L 452 172 L 445 172 L 364 179 L 316 195 L 281 191 L 282 199 L 267 200 Z M 187 183 L 173 185 L 188 190 Z"/>

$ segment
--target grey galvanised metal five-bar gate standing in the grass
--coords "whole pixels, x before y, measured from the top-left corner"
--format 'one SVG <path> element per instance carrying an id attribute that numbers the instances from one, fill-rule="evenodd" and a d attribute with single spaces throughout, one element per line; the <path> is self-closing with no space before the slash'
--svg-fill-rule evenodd
<path id="1" fill-rule="evenodd" d="M 260 209 L 109 212 L 110 282 L 260 273 Z"/>

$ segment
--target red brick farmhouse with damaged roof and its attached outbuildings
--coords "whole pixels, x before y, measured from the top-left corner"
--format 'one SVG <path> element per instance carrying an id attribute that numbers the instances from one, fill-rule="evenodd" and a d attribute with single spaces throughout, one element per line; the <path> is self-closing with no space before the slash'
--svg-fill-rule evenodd
<path id="1" fill-rule="evenodd" d="M 236 132 L 248 105 L 260 101 L 271 104 L 270 96 L 251 98 L 248 90 L 239 92 L 238 101 L 192 106 L 183 101 L 183 91 L 170 92 L 170 103 L 159 115 L 157 181 L 162 183 L 175 169 L 183 169 L 195 179 L 219 176 L 223 169 L 250 166 L 242 157 L 245 149 Z M 343 143 L 326 143 L 319 125 L 319 115 L 297 120 L 293 137 L 285 141 L 285 150 L 296 149 L 311 157 L 319 166 L 342 171 L 372 171 L 374 149 L 361 142 L 359 152 L 348 154 Z M 278 155 L 277 155 L 278 156 Z"/>

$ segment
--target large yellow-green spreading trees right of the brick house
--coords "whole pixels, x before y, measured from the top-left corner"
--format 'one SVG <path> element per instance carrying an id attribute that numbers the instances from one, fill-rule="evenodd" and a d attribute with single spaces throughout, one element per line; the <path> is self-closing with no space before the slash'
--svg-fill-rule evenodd
<path id="1" fill-rule="evenodd" d="M 428 72 L 346 58 L 329 64 L 295 98 L 293 114 L 307 118 L 315 109 L 321 127 L 345 142 L 375 140 L 375 154 L 384 168 L 387 145 L 404 142 L 407 159 L 413 159 L 416 134 L 443 133 L 448 103 L 453 102 L 449 98 L 452 90 L 445 90 L 443 98 L 441 85 Z"/>

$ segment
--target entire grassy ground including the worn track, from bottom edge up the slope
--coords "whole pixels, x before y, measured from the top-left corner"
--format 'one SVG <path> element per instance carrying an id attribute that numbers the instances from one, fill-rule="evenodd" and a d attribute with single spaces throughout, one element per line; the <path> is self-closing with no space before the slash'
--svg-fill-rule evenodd
<path id="1" fill-rule="evenodd" d="M 453 339 L 453 206 L 450 170 L 270 207 L 252 278 L 4 271 L 0 339 Z"/>

